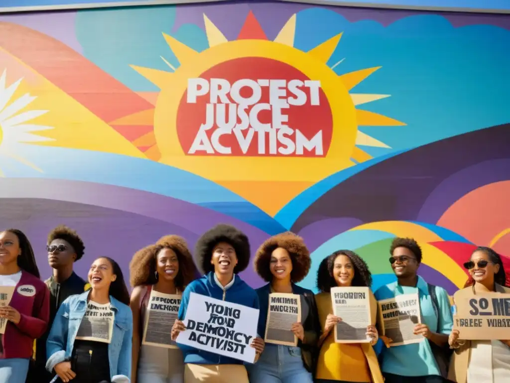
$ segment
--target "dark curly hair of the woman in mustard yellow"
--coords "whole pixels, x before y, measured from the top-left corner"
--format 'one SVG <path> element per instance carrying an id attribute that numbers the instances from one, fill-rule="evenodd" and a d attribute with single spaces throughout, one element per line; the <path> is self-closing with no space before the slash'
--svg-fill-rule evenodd
<path id="1" fill-rule="evenodd" d="M 321 292 L 329 293 L 332 287 L 337 286 L 333 276 L 333 268 L 335 267 L 335 259 L 339 255 L 347 256 L 352 262 L 352 266 L 354 266 L 352 286 L 370 287 L 372 285 L 372 273 L 368 270 L 368 265 L 363 258 L 350 250 L 338 250 L 320 262 L 319 269 L 317 270 L 317 289 Z"/>

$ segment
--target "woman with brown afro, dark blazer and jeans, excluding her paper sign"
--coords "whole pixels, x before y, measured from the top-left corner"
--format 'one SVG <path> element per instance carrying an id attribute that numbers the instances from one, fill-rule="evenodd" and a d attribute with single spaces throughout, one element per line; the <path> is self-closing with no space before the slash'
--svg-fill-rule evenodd
<path id="1" fill-rule="evenodd" d="M 266 282 L 257 289 L 260 302 L 259 334 L 265 334 L 269 294 L 297 294 L 301 301 L 301 318 L 291 331 L 297 347 L 266 344 L 255 365 L 248 367 L 250 383 L 312 383 L 315 371 L 319 322 L 314 293 L 296 285 L 307 276 L 312 261 L 301 237 L 282 233 L 265 241 L 255 257 L 257 273 Z"/>

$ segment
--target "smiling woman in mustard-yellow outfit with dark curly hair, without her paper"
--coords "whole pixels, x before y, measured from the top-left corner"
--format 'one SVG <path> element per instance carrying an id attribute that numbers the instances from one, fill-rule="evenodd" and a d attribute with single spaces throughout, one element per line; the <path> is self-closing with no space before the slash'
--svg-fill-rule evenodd
<path id="1" fill-rule="evenodd" d="M 317 271 L 317 288 L 320 293 L 315 296 L 323 328 L 318 342 L 320 353 L 316 383 L 383 382 L 372 347 L 378 339 L 375 326 L 367 327 L 366 335 L 371 339 L 370 343 L 336 343 L 333 331 L 342 318 L 333 314 L 331 288 L 369 287 L 371 284 L 372 275 L 367 264 L 350 250 L 336 251 L 322 260 Z"/>

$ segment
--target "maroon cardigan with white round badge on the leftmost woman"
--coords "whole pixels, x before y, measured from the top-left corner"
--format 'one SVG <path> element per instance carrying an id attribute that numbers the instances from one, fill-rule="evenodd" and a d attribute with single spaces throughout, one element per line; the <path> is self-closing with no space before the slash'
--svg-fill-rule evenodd
<path id="1" fill-rule="evenodd" d="M 2 337 L 4 354 L 0 358 L 30 358 L 34 352 L 34 340 L 39 338 L 49 321 L 49 290 L 36 276 L 22 270 L 9 305 L 18 310 L 18 324 L 7 322 Z"/>

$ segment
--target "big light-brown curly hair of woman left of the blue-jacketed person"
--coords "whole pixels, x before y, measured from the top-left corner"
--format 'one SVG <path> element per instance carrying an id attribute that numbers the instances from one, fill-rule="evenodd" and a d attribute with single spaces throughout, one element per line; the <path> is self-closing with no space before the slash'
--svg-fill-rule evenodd
<path id="1" fill-rule="evenodd" d="M 175 287 L 184 291 L 186 286 L 195 277 L 195 264 L 188 249 L 188 244 L 179 235 L 166 235 L 161 237 L 154 245 L 149 245 L 137 251 L 130 262 L 130 283 L 133 287 L 144 284 L 155 284 L 156 259 L 162 249 L 171 249 L 179 260 L 179 273 L 174 279 Z"/>

